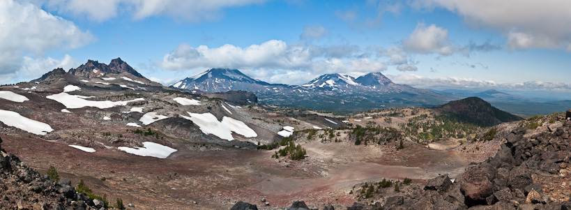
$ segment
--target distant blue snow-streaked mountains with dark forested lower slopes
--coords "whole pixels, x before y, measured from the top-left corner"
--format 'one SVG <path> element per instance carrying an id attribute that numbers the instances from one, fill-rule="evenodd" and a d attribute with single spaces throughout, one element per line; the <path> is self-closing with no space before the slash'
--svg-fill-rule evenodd
<path id="1" fill-rule="evenodd" d="M 211 68 L 170 87 L 206 93 L 251 91 L 261 103 L 337 112 L 383 107 L 428 107 L 459 99 L 456 96 L 395 84 L 381 73 L 369 73 L 357 78 L 326 74 L 306 84 L 287 85 L 255 80 L 236 69 Z"/>

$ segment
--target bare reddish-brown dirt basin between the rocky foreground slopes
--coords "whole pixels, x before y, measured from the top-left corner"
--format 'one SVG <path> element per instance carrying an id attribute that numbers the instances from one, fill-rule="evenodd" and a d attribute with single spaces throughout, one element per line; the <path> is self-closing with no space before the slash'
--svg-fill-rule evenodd
<path id="1" fill-rule="evenodd" d="M 183 143 L 173 145 L 178 151 L 169 158 L 159 159 L 116 149 L 86 153 L 27 136 L 0 137 L 3 149 L 26 165 L 40 172 L 53 165 L 62 179 L 73 184 L 83 179 L 95 193 L 110 201 L 121 197 L 136 209 L 229 209 L 238 201 L 257 204 L 259 209 L 282 209 L 295 200 L 319 209 L 325 204 L 347 207 L 356 201 L 349 191 L 358 183 L 404 177 L 423 183 L 438 174 L 454 178 L 474 161 L 470 158 L 474 153 L 427 149 L 410 142 L 399 151 L 352 142 L 301 142 L 307 158 L 293 161 L 271 158 L 274 151 L 200 151 Z"/>

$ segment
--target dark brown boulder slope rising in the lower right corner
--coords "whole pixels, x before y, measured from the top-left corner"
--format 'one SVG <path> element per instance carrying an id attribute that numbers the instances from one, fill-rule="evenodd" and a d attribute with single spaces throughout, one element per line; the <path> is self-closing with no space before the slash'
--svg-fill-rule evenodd
<path id="1" fill-rule="evenodd" d="M 402 192 L 383 203 L 347 209 L 571 209 L 570 117 L 568 111 L 554 122 L 524 122 L 544 125 L 537 129 L 510 128 L 496 156 L 471 163 L 455 180 L 444 174 L 430 179 L 421 193 Z M 257 206 L 238 202 L 231 209 Z M 294 202 L 289 209 L 310 208 Z"/>

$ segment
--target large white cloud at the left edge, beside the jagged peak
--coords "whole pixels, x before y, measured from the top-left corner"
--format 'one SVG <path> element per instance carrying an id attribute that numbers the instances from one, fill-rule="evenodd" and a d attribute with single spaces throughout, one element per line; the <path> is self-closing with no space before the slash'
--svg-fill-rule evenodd
<path id="1" fill-rule="evenodd" d="M 52 58 L 44 59 L 45 52 L 73 50 L 95 40 L 89 31 L 82 31 L 73 22 L 46 13 L 31 3 L 0 0 L 0 22 L 0 75 L 10 79 L 18 74 L 41 75 L 52 69 L 36 67 L 61 63 Z M 29 54 L 36 59 L 24 57 Z M 69 59 L 64 57 L 62 61 Z"/>

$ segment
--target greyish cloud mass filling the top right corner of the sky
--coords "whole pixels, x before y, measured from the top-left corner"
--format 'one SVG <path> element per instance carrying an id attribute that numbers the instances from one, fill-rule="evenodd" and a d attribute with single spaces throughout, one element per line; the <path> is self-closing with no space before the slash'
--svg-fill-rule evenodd
<path id="1" fill-rule="evenodd" d="M 571 1 L 416 0 L 413 8 L 446 8 L 474 27 L 502 33 L 512 50 L 547 48 L 571 51 Z"/>

